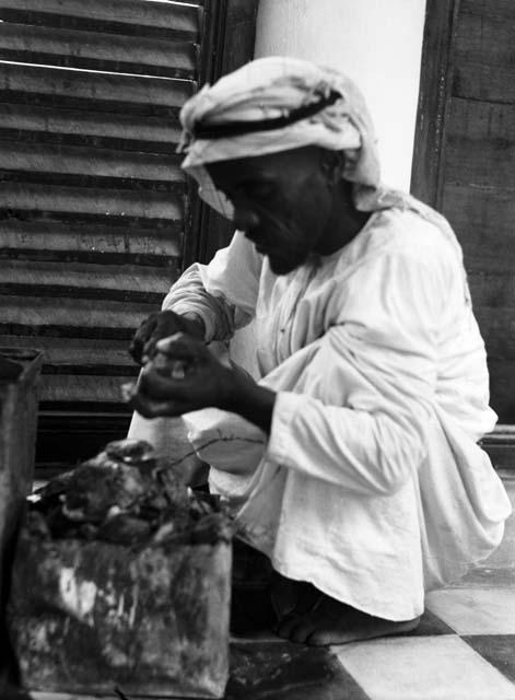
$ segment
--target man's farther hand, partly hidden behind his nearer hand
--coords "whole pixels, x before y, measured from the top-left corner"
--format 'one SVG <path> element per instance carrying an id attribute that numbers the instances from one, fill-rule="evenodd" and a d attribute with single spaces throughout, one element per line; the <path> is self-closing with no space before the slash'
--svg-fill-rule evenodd
<path id="1" fill-rule="evenodd" d="M 203 340 L 203 323 L 196 315 L 179 315 L 173 311 L 151 314 L 136 331 L 129 352 L 138 364 L 145 364 L 153 358 L 157 340 L 176 332 L 185 332 Z"/>

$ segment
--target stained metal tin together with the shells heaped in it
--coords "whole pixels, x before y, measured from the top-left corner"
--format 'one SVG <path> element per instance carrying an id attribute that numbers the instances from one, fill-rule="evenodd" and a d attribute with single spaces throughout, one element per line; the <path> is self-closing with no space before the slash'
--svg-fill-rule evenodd
<path id="1" fill-rule="evenodd" d="M 139 441 L 38 491 L 20 528 L 8 628 L 27 690 L 220 698 L 232 525 Z"/>

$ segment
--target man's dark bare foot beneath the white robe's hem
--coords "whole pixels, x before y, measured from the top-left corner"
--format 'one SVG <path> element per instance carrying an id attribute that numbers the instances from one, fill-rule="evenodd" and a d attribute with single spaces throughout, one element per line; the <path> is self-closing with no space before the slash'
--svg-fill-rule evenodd
<path id="1" fill-rule="evenodd" d="M 401 622 L 373 617 L 320 593 L 314 586 L 307 595 L 306 586 L 309 584 L 301 585 L 303 595 L 293 609 L 280 618 L 274 630 L 279 637 L 292 642 L 312 646 L 347 644 L 410 632 L 420 621 L 420 617 Z M 305 609 L 307 599 L 312 603 L 308 610 Z"/>

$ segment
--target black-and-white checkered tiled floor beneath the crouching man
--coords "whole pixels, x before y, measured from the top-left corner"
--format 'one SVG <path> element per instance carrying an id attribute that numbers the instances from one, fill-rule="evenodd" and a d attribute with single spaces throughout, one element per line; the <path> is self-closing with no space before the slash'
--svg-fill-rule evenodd
<path id="1" fill-rule="evenodd" d="M 504 480 L 515 503 L 515 471 Z M 234 642 L 225 700 L 261 699 L 515 700 L 515 516 L 483 565 L 428 596 L 413 633 L 331 650 L 272 638 Z"/>

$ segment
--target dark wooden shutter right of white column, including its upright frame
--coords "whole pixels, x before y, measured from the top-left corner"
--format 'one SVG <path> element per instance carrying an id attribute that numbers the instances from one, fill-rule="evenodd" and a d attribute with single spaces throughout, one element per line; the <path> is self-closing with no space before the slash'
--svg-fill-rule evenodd
<path id="1" fill-rule="evenodd" d="M 513 424 L 515 2 L 428 0 L 424 44 L 412 191 L 441 209 L 459 237 L 491 404 L 501 423 Z"/>

